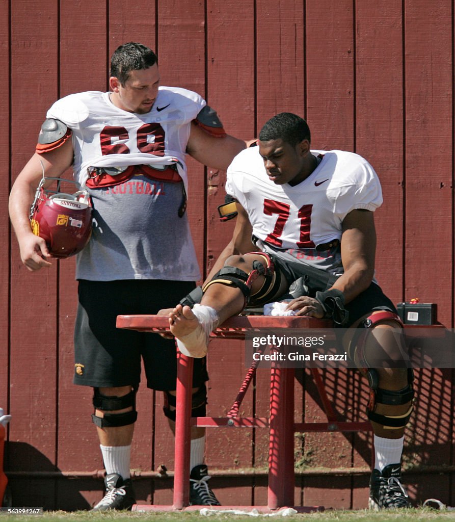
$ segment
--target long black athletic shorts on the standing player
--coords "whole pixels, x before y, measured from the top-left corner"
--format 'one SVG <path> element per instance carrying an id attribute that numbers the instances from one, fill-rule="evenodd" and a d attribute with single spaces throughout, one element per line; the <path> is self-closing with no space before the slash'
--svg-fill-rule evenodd
<path id="1" fill-rule="evenodd" d="M 141 359 L 147 387 L 175 390 L 174 339 L 116 328 L 117 315 L 156 314 L 174 307 L 195 283 L 163 280 L 79 281 L 74 383 L 93 387 L 136 386 Z M 208 380 L 206 358 L 194 359 L 193 386 Z"/>

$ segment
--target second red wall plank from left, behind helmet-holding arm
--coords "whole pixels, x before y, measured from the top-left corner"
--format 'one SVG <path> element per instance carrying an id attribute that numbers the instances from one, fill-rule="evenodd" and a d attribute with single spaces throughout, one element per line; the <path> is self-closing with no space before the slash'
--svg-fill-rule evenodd
<path id="1" fill-rule="evenodd" d="M 15 174 L 34 152 L 45 111 L 58 90 L 57 6 L 38 0 L 32 14 L 28 7 L 22 0 L 11 5 L 11 167 Z M 10 410 L 15 421 L 10 440 L 20 445 L 9 448 L 10 466 L 52 469 L 56 459 L 57 263 L 32 274 L 21 265 L 16 242 L 12 256 Z M 38 461 L 32 458 L 36 453 L 41 456 Z M 27 505 L 33 483 L 26 480 L 21 485 L 15 500 Z M 53 481 L 46 481 L 41 491 L 44 506 L 55 508 Z"/>

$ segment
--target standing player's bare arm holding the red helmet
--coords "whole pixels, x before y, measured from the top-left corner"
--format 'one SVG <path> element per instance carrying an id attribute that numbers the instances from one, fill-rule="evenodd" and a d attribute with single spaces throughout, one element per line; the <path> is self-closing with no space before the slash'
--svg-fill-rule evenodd
<path id="1" fill-rule="evenodd" d="M 42 165 L 41 165 L 42 162 Z M 30 206 L 44 175 L 58 177 L 73 163 L 73 143 L 69 139 L 50 152 L 34 153 L 14 182 L 9 195 L 9 217 L 19 242 L 22 263 L 30 271 L 50 267 L 45 241 L 34 235 L 29 220 Z"/>

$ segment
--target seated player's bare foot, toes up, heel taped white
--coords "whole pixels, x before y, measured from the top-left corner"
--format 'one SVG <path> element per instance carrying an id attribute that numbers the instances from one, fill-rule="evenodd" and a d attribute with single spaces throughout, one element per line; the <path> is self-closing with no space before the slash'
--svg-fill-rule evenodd
<path id="1" fill-rule="evenodd" d="M 205 357 L 211 326 L 202 325 L 193 310 L 181 304 L 177 304 L 169 314 L 169 324 L 178 349 L 184 355 L 197 359 Z"/>

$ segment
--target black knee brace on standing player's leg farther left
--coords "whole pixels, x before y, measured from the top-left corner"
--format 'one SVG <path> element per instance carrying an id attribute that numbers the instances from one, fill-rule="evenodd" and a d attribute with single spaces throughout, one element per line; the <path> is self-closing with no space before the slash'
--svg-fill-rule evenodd
<path id="1" fill-rule="evenodd" d="M 104 417 L 98 417 L 96 413 L 92 414 L 92 422 L 98 428 L 118 428 L 119 426 L 127 426 L 134 424 L 137 420 L 136 411 L 136 392 L 137 388 L 131 390 L 130 393 L 122 397 L 103 395 L 98 388 L 93 390 L 93 406 L 97 410 L 114 411 L 123 410 L 124 408 L 133 407 L 133 410 L 125 413 L 104 413 Z"/>

